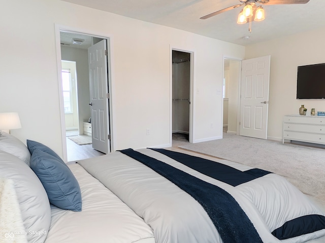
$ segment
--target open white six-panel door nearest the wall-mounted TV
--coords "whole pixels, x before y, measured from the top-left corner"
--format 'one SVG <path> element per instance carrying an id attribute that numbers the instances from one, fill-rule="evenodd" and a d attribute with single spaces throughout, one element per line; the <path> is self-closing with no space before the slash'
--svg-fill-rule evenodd
<path id="1" fill-rule="evenodd" d="M 242 61 L 240 135 L 267 139 L 271 56 Z"/>

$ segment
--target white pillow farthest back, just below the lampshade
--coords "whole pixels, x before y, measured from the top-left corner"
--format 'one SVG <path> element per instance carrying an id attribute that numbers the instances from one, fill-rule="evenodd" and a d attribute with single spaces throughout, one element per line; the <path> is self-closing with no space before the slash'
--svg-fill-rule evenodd
<path id="1" fill-rule="evenodd" d="M 8 133 L 0 132 L 0 150 L 15 155 L 29 166 L 29 150 L 18 138 Z"/>

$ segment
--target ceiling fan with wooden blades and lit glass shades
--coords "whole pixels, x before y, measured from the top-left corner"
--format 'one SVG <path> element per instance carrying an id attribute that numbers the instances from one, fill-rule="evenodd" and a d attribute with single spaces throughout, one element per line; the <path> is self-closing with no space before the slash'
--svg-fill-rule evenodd
<path id="1" fill-rule="evenodd" d="M 238 7 L 244 6 L 243 10 L 238 15 L 238 24 L 245 24 L 247 23 L 247 19 L 249 21 L 249 32 L 251 32 L 251 21 L 262 21 L 265 19 L 264 9 L 263 7 L 256 6 L 256 4 L 264 4 L 264 5 L 280 5 L 280 4 L 307 4 L 309 0 L 246 0 L 242 1 L 239 0 L 241 4 L 237 4 L 225 9 L 221 9 L 219 11 L 213 12 L 206 16 L 201 17 L 200 19 L 208 19 L 213 17 L 217 14 L 221 14 L 223 12 L 236 9 Z"/>

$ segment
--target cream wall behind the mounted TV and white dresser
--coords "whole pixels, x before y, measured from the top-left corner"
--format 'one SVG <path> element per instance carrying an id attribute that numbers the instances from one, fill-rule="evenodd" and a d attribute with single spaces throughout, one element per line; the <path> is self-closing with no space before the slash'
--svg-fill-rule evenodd
<path id="1" fill-rule="evenodd" d="M 325 62 L 325 28 L 290 35 L 246 47 L 245 58 L 271 55 L 268 138 L 282 139 L 285 114 L 299 114 L 304 104 L 325 111 L 325 100 L 297 100 L 297 67 Z"/>

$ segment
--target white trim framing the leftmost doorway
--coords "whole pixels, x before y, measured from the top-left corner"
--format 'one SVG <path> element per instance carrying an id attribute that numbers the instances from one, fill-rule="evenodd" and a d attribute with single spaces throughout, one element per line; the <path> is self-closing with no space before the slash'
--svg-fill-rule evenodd
<path id="1" fill-rule="evenodd" d="M 108 58 L 108 89 L 110 93 L 110 98 L 109 98 L 109 113 L 107 114 L 109 116 L 108 119 L 108 126 L 110 126 L 110 134 L 111 134 L 111 139 L 110 139 L 110 145 L 111 145 L 111 151 L 114 151 L 114 120 L 113 120 L 113 85 L 112 85 L 112 80 L 113 80 L 113 66 L 112 66 L 112 59 L 113 59 L 113 52 L 112 52 L 112 36 L 107 36 L 107 34 L 101 34 L 101 33 L 96 33 L 92 32 L 90 30 L 86 29 L 80 29 L 80 28 L 75 28 L 75 27 L 70 27 L 70 26 L 64 26 L 60 24 L 54 24 L 55 25 L 55 46 L 56 46 L 56 62 L 57 62 L 57 79 L 58 79 L 58 88 L 59 88 L 59 107 L 60 107 L 60 120 L 61 120 L 61 137 L 62 137 L 62 153 L 63 153 L 63 161 L 68 161 L 68 154 L 67 154 L 67 141 L 66 141 L 66 121 L 64 119 L 64 102 L 63 102 L 63 94 L 62 94 L 62 77 L 61 77 L 61 70 L 62 70 L 62 65 L 61 65 L 61 42 L 60 42 L 60 31 L 68 31 L 72 33 L 79 33 L 79 34 L 84 34 L 84 35 L 91 35 L 93 37 L 99 37 L 107 40 L 107 46 L 108 46 L 108 51 L 109 51 L 109 58 Z"/>

